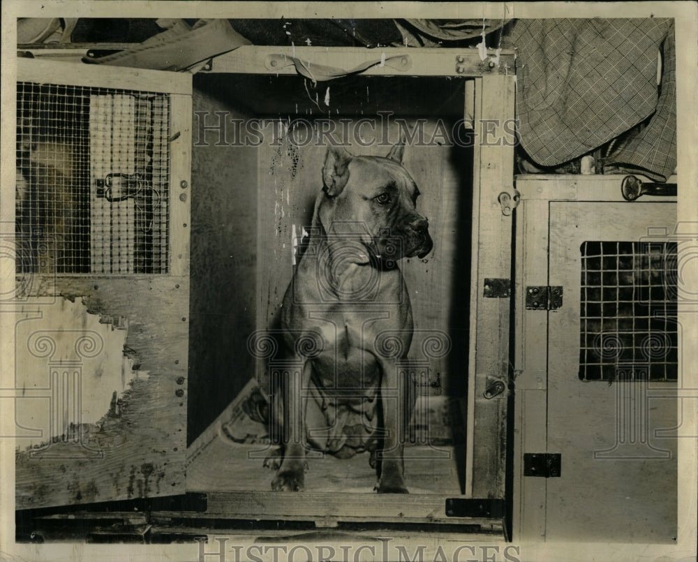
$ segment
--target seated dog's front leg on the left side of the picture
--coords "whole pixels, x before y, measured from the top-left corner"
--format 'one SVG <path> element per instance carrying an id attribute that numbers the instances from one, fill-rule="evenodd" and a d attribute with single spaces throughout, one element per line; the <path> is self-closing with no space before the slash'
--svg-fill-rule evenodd
<path id="1" fill-rule="evenodd" d="M 311 371 L 311 362 L 306 360 L 300 372 L 291 368 L 285 374 L 283 461 L 272 480 L 274 491 L 304 489 L 307 399 L 303 396 L 303 391 L 309 387 Z"/>

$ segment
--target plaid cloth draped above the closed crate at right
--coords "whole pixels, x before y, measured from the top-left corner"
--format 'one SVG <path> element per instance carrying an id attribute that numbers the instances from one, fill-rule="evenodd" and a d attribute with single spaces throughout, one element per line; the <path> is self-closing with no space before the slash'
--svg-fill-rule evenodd
<path id="1" fill-rule="evenodd" d="M 666 181 L 676 168 L 674 20 L 518 20 L 508 39 L 521 147 L 533 161 L 570 161 L 645 122 L 604 171 Z"/>

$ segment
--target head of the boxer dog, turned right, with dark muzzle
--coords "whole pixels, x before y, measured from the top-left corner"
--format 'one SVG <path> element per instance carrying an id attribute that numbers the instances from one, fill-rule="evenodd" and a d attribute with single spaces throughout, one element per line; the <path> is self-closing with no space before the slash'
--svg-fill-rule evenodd
<path id="1" fill-rule="evenodd" d="M 429 221 L 417 212 L 419 188 L 402 166 L 404 144 L 385 158 L 329 147 L 318 218 L 325 231 L 355 237 L 373 258 L 424 258 L 433 246 Z"/>

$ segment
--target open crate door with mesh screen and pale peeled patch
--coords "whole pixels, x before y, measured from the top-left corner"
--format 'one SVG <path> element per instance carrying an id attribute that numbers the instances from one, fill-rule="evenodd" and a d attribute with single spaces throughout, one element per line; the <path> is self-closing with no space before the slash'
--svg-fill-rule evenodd
<path id="1" fill-rule="evenodd" d="M 191 75 L 17 63 L 16 507 L 181 494 Z"/>

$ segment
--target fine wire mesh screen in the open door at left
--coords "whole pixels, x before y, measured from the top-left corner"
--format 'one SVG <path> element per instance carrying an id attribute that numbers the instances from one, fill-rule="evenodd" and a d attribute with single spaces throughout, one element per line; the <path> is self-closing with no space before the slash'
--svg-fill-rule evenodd
<path id="1" fill-rule="evenodd" d="M 17 83 L 18 272 L 168 272 L 167 94 Z"/>

